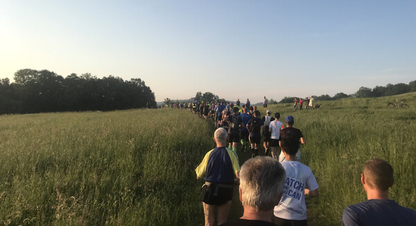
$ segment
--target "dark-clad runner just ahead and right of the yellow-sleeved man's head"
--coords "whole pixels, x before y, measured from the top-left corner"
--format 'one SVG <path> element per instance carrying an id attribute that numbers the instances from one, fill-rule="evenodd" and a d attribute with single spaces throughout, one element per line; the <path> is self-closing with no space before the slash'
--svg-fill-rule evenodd
<path id="1" fill-rule="evenodd" d="M 233 114 L 226 117 L 228 128 L 228 148 L 232 149 L 234 153 L 237 153 L 237 145 L 240 141 L 240 128 L 243 128 L 243 121 L 239 116 L 239 107 L 232 108 Z"/>

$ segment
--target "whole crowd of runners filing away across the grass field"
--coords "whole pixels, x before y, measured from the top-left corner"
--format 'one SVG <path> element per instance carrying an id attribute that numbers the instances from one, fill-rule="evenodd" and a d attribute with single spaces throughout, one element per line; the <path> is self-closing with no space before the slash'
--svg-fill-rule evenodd
<path id="1" fill-rule="evenodd" d="M 297 100 L 293 110 L 313 109 L 313 97 Z M 302 132 L 293 128 L 293 116 L 284 123 L 280 114 L 268 110 L 263 101 L 263 116 L 250 100 L 236 103 L 193 102 L 182 104 L 200 117 L 214 119 L 216 148 L 209 150 L 196 168 L 202 186 L 205 225 L 307 225 L 305 196 L 319 196 L 318 183 L 311 168 L 302 164 L 300 144 L 306 141 Z M 182 107 L 180 105 L 179 107 Z M 319 107 L 319 105 L 315 106 Z M 259 147 L 265 156 L 259 155 Z M 251 151 L 251 159 L 240 166 L 241 153 Z M 241 167 L 241 171 L 240 171 Z M 366 169 L 367 167 L 367 169 Z M 388 198 L 392 186 L 392 167 L 382 159 L 372 159 L 361 175 L 367 202 L 347 207 L 343 225 L 416 225 L 416 211 L 399 206 Z M 378 183 L 378 184 L 375 184 Z M 227 222 L 234 186 L 239 184 L 243 216 Z M 394 214 L 388 214 L 388 213 Z"/>

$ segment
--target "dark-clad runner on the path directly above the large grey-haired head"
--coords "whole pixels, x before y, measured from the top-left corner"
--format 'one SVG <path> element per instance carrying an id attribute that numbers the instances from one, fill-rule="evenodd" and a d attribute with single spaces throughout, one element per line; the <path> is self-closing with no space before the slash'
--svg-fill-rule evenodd
<path id="1" fill-rule="evenodd" d="M 252 157 L 256 157 L 259 155 L 259 144 L 261 140 L 260 131 L 261 129 L 264 130 L 264 123 L 261 121 L 261 119 L 259 119 L 260 112 L 258 110 L 254 111 L 253 115 L 254 116 L 247 123 L 247 128 L 248 132 L 250 132 L 249 139 L 252 150 Z"/>

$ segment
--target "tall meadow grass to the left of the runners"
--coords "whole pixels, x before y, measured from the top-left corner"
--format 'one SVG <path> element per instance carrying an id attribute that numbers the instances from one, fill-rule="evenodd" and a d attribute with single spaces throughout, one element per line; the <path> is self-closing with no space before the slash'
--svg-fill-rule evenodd
<path id="1" fill-rule="evenodd" d="M 0 116 L 0 223 L 203 222 L 193 169 L 214 146 L 213 125 L 181 113 Z"/>

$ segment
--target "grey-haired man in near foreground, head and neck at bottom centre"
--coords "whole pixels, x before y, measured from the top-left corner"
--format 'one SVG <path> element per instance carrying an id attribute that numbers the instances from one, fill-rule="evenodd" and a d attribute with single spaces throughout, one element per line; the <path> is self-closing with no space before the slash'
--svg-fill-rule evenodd
<path id="1" fill-rule="evenodd" d="M 240 200 L 244 213 L 238 220 L 223 226 L 233 225 L 274 225 L 273 209 L 279 204 L 286 171 L 272 157 L 248 159 L 240 171 Z"/>

